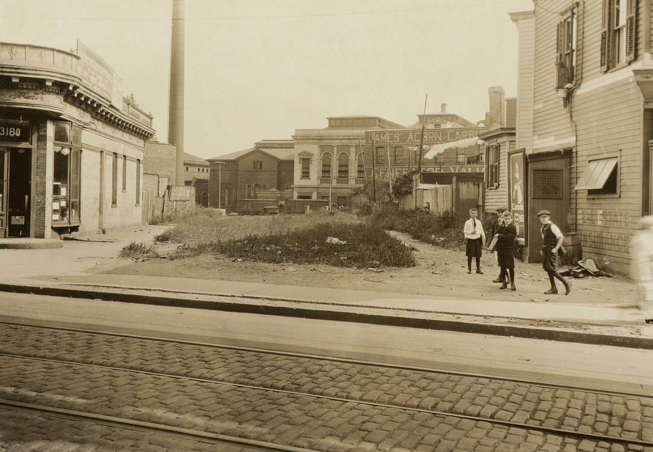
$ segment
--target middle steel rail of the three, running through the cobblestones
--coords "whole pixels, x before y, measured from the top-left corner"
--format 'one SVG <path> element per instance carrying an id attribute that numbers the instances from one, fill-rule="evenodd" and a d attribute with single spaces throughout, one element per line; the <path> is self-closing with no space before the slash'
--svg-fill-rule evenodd
<path id="1" fill-rule="evenodd" d="M 513 427 L 513 428 L 517 428 L 517 429 L 537 430 L 537 431 L 543 432 L 543 433 L 554 434 L 556 436 L 578 438 L 580 440 L 593 440 L 593 441 L 597 441 L 597 442 L 605 441 L 605 442 L 612 442 L 612 443 L 619 443 L 619 444 L 636 444 L 636 445 L 641 445 L 641 446 L 645 446 L 645 447 L 653 446 L 653 442 L 649 442 L 649 441 L 645 441 L 645 440 L 628 439 L 628 438 L 621 438 L 620 436 L 608 436 L 608 435 L 603 435 L 603 434 L 584 433 L 584 432 L 577 432 L 577 431 L 574 431 L 574 430 L 556 429 L 556 428 L 552 428 L 552 427 L 544 427 L 542 425 L 530 425 L 530 424 L 525 424 L 525 423 L 520 423 L 520 422 L 502 421 L 500 419 L 490 419 L 490 418 L 487 418 L 487 417 L 479 417 L 479 416 L 472 416 L 472 415 L 465 415 L 465 414 L 456 414 L 456 413 L 451 413 L 451 412 L 441 412 L 441 411 L 438 411 L 438 410 L 427 410 L 425 408 L 417 408 L 417 407 L 409 407 L 409 406 L 401 406 L 401 405 L 385 404 L 385 403 L 377 403 L 377 402 L 368 402 L 366 400 L 356 400 L 356 399 L 347 399 L 345 397 L 333 397 L 333 396 L 317 395 L 317 394 L 311 394 L 311 393 L 304 393 L 304 392 L 300 392 L 300 391 L 289 391 L 287 389 L 276 389 L 276 388 L 263 387 L 263 386 L 258 386 L 258 385 L 248 385 L 248 384 L 224 382 L 224 381 L 221 381 L 221 380 L 210 380 L 210 379 L 206 379 L 206 378 L 195 378 L 195 377 L 188 377 L 188 376 L 175 375 L 175 374 L 165 374 L 165 373 L 161 373 L 161 372 L 150 372 L 150 371 L 147 371 L 147 370 L 125 369 L 125 368 L 121 368 L 121 367 L 111 367 L 111 366 L 105 366 L 105 365 L 99 365 L 99 364 L 78 363 L 78 362 L 75 362 L 75 361 L 67 361 L 67 360 L 62 360 L 62 359 L 30 357 L 30 356 L 25 356 L 25 355 L 5 354 L 5 353 L 2 353 L 2 352 L 0 352 L 0 356 L 18 357 L 18 358 L 22 358 L 22 359 L 32 359 L 34 361 L 45 361 L 45 362 L 59 363 L 59 364 L 65 364 L 65 365 L 77 365 L 77 366 L 83 366 L 83 367 L 94 367 L 94 368 L 98 368 L 98 369 L 118 370 L 119 372 L 129 372 L 129 373 L 135 373 L 135 374 L 146 374 L 146 375 L 152 375 L 152 376 L 160 376 L 160 377 L 164 377 L 164 378 L 172 378 L 172 379 L 176 379 L 176 380 L 187 380 L 187 381 L 195 381 L 195 382 L 218 384 L 218 385 L 229 385 L 229 386 L 233 386 L 233 387 L 243 387 L 243 388 L 247 388 L 247 389 L 254 389 L 256 391 L 262 391 L 262 392 L 282 393 L 282 394 L 287 394 L 287 395 L 296 395 L 296 396 L 300 396 L 300 397 L 311 397 L 313 399 L 334 400 L 336 402 L 343 402 L 343 403 L 353 402 L 353 403 L 356 403 L 356 404 L 379 407 L 379 408 L 397 408 L 399 410 L 426 413 L 426 414 L 442 416 L 442 417 L 448 417 L 448 416 L 449 417 L 457 417 L 458 419 L 468 419 L 468 420 L 471 420 L 471 421 L 474 421 L 474 422 L 487 422 L 487 423 L 492 423 L 492 424 L 496 424 L 496 425 L 503 425 L 505 427 Z"/>

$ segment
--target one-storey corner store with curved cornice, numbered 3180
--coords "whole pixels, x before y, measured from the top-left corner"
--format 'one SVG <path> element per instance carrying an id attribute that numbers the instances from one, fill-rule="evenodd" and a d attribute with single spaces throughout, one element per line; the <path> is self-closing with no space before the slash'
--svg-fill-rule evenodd
<path id="1" fill-rule="evenodd" d="M 0 234 L 52 238 L 142 224 L 152 116 L 99 55 L 0 43 Z"/>

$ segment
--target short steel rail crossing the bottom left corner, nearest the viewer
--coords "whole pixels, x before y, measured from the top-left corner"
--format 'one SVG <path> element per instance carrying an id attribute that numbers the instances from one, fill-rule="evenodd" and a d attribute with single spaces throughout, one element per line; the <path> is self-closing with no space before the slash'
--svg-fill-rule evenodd
<path id="1" fill-rule="evenodd" d="M 221 433 L 202 432 L 201 430 L 184 429 L 146 421 L 137 421 L 127 417 L 116 417 L 104 414 L 95 414 L 79 410 L 68 410 L 67 408 L 55 408 L 52 406 L 17 402 L 15 400 L 0 399 L 0 406 L 11 410 L 25 410 L 39 413 L 46 413 L 65 419 L 75 421 L 91 421 L 99 425 L 108 425 L 109 427 L 127 428 L 130 430 L 140 430 L 145 432 L 161 432 L 177 438 L 184 438 L 203 442 L 208 444 L 234 444 L 251 447 L 257 451 L 290 451 L 290 452 L 314 452 L 313 449 L 304 449 L 303 447 L 294 447 L 291 445 L 279 445 L 266 441 L 249 440 L 239 438 L 238 436 L 229 436 Z"/>

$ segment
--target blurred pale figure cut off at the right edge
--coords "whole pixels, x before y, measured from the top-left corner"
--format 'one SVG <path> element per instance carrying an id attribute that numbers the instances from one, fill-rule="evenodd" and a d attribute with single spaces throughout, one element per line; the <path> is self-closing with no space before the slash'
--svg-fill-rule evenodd
<path id="1" fill-rule="evenodd" d="M 639 309 L 653 324 L 653 216 L 640 220 L 641 231 L 631 242 L 631 273 L 639 286 Z"/>

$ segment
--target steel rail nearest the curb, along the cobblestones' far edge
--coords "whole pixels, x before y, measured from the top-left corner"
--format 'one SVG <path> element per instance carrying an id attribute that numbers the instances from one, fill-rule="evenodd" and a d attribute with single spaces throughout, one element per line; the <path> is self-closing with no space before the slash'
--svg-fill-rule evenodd
<path id="1" fill-rule="evenodd" d="M 170 338 L 157 337 L 157 336 L 129 335 L 129 334 L 126 334 L 126 333 L 112 333 L 111 331 L 95 331 L 95 330 L 92 330 L 92 329 L 77 329 L 77 328 L 69 328 L 69 327 L 53 327 L 53 326 L 50 326 L 50 325 L 19 324 L 19 323 L 14 323 L 14 322 L 2 322 L 2 321 L 0 321 L 0 325 L 14 325 L 14 326 L 19 326 L 19 327 L 24 326 L 24 327 L 33 327 L 33 328 L 42 328 L 42 329 L 52 329 L 52 330 L 56 330 L 56 331 L 71 331 L 71 332 L 74 332 L 74 333 L 86 333 L 86 334 L 99 335 L 99 336 L 125 337 L 125 338 L 129 338 L 129 339 L 155 340 L 155 341 L 159 341 L 159 342 L 168 342 L 168 343 L 172 343 L 172 344 L 185 344 L 185 345 L 201 346 L 201 347 L 216 348 L 216 349 L 223 349 L 223 350 L 239 350 L 239 351 L 242 351 L 242 352 L 251 352 L 251 353 L 259 353 L 259 354 L 279 355 L 279 356 L 287 356 L 287 357 L 299 357 L 299 358 L 306 358 L 306 359 L 316 359 L 316 360 L 319 360 L 319 361 L 331 361 L 331 362 L 335 362 L 335 363 L 348 363 L 348 364 L 355 364 L 355 365 L 381 367 L 381 368 L 385 368 L 385 369 L 411 370 L 411 371 L 415 371 L 415 372 L 428 372 L 428 373 L 431 373 L 431 374 L 453 375 L 453 376 L 462 376 L 462 377 L 469 377 L 469 378 L 485 378 L 487 380 L 492 380 L 492 381 L 495 381 L 495 382 L 521 383 L 521 384 L 538 386 L 538 387 L 549 388 L 549 389 L 566 389 L 568 391 L 587 392 L 587 393 L 593 393 L 593 394 L 598 394 L 598 395 L 613 395 L 613 396 L 620 396 L 620 397 L 639 397 L 639 398 L 645 398 L 645 399 L 653 399 L 653 394 L 648 395 L 648 394 L 645 394 L 645 393 L 629 393 L 629 392 L 626 392 L 626 391 L 610 391 L 608 389 L 596 389 L 596 388 L 592 388 L 592 387 L 543 383 L 543 382 L 538 382 L 536 380 L 525 380 L 525 379 L 520 379 L 520 378 L 509 378 L 509 377 L 503 377 L 503 376 L 493 376 L 493 375 L 488 375 L 488 374 L 473 374 L 471 372 L 460 372 L 460 371 L 453 371 L 453 370 L 436 369 L 436 368 L 432 368 L 432 367 L 408 366 L 408 365 L 383 363 L 383 362 L 376 362 L 376 361 L 364 361 L 362 359 L 349 359 L 349 358 L 332 357 L 332 356 L 326 356 L 326 355 L 302 354 L 302 353 L 297 353 L 297 352 L 283 352 L 283 351 L 279 351 L 279 350 L 271 350 L 271 349 L 266 349 L 266 348 L 253 348 L 253 347 L 243 347 L 243 346 L 211 344 L 209 342 L 195 342 L 195 341 L 192 341 L 192 340 L 170 339 Z"/>

